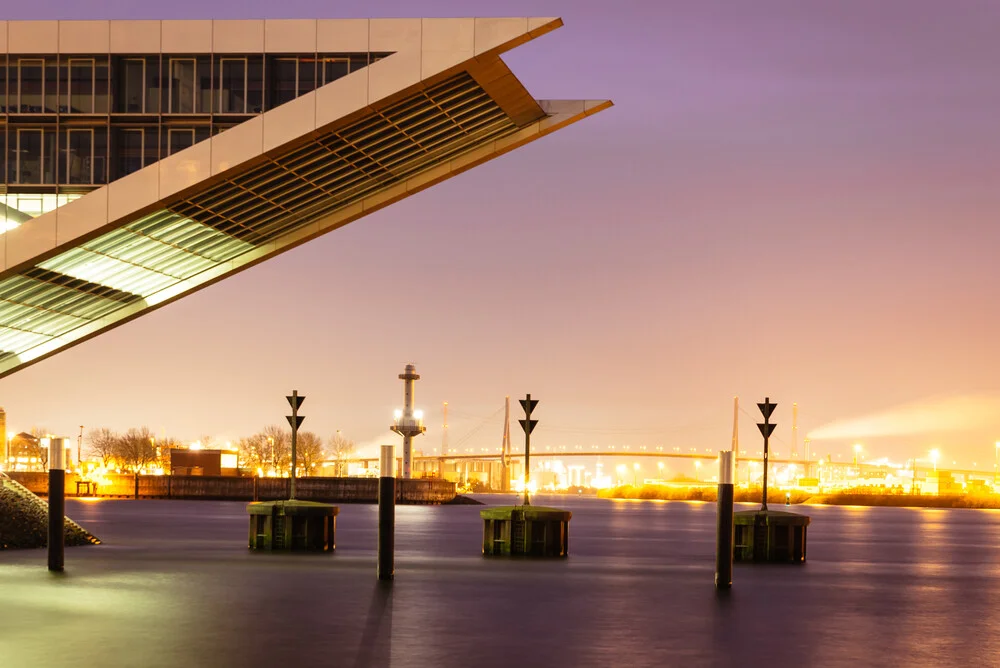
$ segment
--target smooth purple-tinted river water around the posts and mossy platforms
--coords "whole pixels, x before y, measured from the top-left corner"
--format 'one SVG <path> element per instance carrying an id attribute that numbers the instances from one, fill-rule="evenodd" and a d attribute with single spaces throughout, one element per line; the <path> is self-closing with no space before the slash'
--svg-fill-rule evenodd
<path id="1" fill-rule="evenodd" d="M 505 503 L 499 497 L 482 497 Z M 337 552 L 246 550 L 242 503 L 69 501 L 100 547 L 0 552 L 0 666 L 998 666 L 1000 512 L 799 508 L 809 562 L 712 586 L 714 504 L 539 498 L 565 561 L 486 560 L 476 506 L 341 506 Z"/>

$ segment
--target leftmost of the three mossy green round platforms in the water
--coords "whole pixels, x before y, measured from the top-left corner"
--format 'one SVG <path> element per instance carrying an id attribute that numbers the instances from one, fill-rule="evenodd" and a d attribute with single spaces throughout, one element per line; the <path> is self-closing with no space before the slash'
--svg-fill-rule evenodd
<path id="1" fill-rule="evenodd" d="M 247 505 L 250 549 L 271 552 L 330 552 L 337 548 L 340 509 L 314 501 L 261 501 Z"/>

